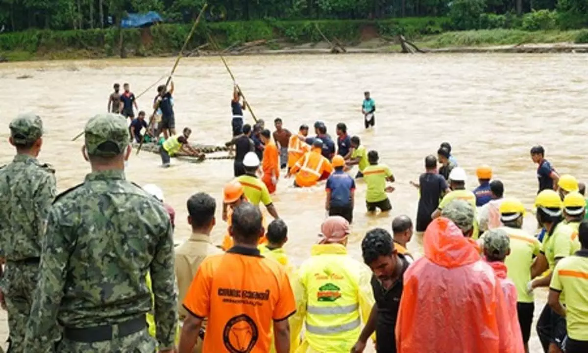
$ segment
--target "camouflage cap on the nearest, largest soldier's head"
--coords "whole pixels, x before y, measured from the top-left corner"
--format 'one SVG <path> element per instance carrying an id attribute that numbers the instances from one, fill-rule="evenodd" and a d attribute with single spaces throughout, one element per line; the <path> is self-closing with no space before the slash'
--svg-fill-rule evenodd
<path id="1" fill-rule="evenodd" d="M 88 155 L 115 156 L 129 145 L 129 128 L 119 114 L 98 114 L 88 121 L 84 130 Z"/>

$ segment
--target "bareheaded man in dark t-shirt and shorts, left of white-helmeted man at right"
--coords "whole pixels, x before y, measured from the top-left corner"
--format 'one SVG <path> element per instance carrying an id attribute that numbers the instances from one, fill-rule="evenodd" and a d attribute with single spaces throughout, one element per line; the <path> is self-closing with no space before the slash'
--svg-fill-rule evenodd
<path id="1" fill-rule="evenodd" d="M 410 184 L 419 189 L 416 234 L 422 235 L 432 221 L 431 215 L 439 207 L 440 199 L 450 190 L 445 178 L 437 173 L 437 159 L 433 155 L 425 158 L 425 172 L 419 176 L 419 184 L 412 181 Z"/>

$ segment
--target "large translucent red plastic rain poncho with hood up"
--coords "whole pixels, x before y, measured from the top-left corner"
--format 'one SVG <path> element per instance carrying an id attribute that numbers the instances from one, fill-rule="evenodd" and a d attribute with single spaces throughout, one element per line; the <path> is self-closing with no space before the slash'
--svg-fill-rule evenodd
<path id="1" fill-rule="evenodd" d="M 503 352 L 502 290 L 479 249 L 447 218 L 427 227 L 425 257 L 405 272 L 396 324 L 399 353 Z M 515 352 L 515 350 L 512 350 Z"/>

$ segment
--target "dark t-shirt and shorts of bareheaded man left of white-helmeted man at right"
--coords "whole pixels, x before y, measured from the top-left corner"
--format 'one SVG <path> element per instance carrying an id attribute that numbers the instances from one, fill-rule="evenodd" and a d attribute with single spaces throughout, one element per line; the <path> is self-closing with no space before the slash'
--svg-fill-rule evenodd
<path id="1" fill-rule="evenodd" d="M 419 177 L 420 199 L 416 211 L 416 231 L 424 232 L 432 221 L 431 214 L 439 207 L 439 199 L 447 189 L 447 182 L 440 174 L 423 173 Z"/>

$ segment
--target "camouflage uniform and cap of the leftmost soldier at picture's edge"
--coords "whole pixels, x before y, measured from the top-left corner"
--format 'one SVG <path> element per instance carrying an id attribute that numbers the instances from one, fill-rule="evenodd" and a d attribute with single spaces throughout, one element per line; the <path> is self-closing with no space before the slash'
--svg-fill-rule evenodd
<path id="1" fill-rule="evenodd" d="M 19 115 L 10 123 L 12 141 L 31 145 L 43 134 L 41 118 Z M 41 257 L 45 221 L 56 194 L 55 171 L 34 156 L 17 154 L 0 169 L 0 252 L 6 260 L 2 291 L 8 311 L 8 352 L 24 352 Z M 52 325 L 55 326 L 55 325 Z"/>

